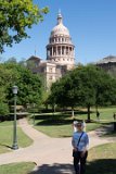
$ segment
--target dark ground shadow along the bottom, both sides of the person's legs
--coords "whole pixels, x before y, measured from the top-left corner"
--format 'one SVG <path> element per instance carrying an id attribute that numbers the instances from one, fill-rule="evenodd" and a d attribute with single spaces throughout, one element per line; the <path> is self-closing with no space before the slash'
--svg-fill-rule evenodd
<path id="1" fill-rule="evenodd" d="M 116 174 L 116 159 L 99 159 L 87 164 L 86 174 Z M 28 174 L 74 174 L 73 164 L 43 164 Z"/>

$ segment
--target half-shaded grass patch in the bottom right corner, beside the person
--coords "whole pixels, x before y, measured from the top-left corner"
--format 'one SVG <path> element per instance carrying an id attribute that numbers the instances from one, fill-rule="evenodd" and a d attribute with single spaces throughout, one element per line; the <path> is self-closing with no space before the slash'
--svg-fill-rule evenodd
<path id="1" fill-rule="evenodd" d="M 101 145 L 89 151 L 87 174 L 116 174 L 116 142 Z"/>

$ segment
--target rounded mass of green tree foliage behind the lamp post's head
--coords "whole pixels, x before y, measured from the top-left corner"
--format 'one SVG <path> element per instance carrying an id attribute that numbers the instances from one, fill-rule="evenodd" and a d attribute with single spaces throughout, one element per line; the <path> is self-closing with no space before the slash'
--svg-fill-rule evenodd
<path id="1" fill-rule="evenodd" d="M 39 75 L 33 74 L 25 66 L 17 63 L 0 65 L 0 101 L 13 104 L 12 86 L 18 87 L 17 104 L 27 107 L 28 103 L 39 104 L 42 96 L 42 85 Z"/>

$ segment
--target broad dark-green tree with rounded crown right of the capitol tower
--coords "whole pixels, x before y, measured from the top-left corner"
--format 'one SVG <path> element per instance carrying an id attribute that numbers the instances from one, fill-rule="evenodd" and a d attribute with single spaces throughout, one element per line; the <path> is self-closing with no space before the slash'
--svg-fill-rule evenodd
<path id="1" fill-rule="evenodd" d="M 101 69 L 87 65 L 79 66 L 51 88 L 51 101 L 61 105 L 82 105 L 88 109 L 90 121 L 90 108 L 116 103 L 116 79 Z"/>

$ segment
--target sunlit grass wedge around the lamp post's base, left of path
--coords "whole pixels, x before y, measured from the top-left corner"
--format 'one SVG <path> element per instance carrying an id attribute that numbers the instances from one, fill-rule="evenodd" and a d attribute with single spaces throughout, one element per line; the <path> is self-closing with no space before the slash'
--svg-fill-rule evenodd
<path id="1" fill-rule="evenodd" d="M 18 147 L 28 147 L 33 140 L 17 126 Z M 13 125 L 11 122 L 0 123 L 0 153 L 10 151 L 13 144 Z"/>

